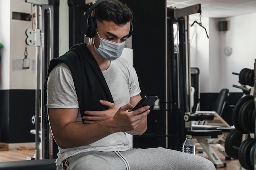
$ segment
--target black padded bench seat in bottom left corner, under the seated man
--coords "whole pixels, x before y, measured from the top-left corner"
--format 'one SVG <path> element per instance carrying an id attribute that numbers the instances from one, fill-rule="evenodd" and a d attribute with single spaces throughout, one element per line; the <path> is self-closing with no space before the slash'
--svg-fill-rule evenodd
<path id="1" fill-rule="evenodd" d="M 0 163 L 0 170 L 56 170 L 56 159 L 8 161 Z"/>

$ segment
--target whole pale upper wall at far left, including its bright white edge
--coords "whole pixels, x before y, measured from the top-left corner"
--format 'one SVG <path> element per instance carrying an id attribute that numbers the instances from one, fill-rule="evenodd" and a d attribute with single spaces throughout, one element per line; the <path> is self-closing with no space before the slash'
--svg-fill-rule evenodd
<path id="1" fill-rule="evenodd" d="M 32 8 L 34 11 L 34 7 Z M 25 52 L 26 29 L 32 22 L 12 19 L 12 12 L 31 13 L 31 4 L 25 0 L 0 1 L 0 42 L 4 45 L 2 55 L 1 89 L 34 89 L 35 46 L 27 46 L 30 68 L 22 69 Z M 34 12 L 33 12 L 34 13 Z"/>

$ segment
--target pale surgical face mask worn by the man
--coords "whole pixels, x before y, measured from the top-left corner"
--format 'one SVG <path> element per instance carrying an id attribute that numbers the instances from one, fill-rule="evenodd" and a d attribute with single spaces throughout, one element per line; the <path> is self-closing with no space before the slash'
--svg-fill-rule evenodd
<path id="1" fill-rule="evenodd" d="M 99 33 L 97 31 L 97 34 L 99 36 Z M 103 59 L 105 60 L 116 60 L 119 58 L 123 52 L 124 49 L 124 42 L 117 43 L 117 42 L 112 42 L 109 40 L 105 40 L 99 36 L 100 44 L 99 48 L 97 49 L 94 45 L 94 40 L 93 40 L 93 46 L 96 51 L 96 53 Z"/>

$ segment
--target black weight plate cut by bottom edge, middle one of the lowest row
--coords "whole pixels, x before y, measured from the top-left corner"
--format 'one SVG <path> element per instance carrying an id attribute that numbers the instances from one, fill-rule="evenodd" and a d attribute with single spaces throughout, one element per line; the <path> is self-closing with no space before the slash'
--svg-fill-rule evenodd
<path id="1" fill-rule="evenodd" d="M 254 170 L 250 161 L 250 152 L 255 140 L 253 138 L 245 139 L 238 149 L 238 160 L 240 165 L 247 170 Z"/>

